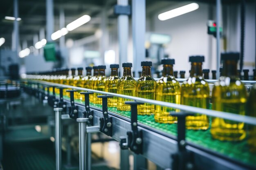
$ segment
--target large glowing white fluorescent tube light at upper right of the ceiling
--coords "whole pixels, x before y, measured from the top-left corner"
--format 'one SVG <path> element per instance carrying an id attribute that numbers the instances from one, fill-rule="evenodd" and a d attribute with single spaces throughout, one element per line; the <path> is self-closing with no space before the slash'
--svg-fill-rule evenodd
<path id="1" fill-rule="evenodd" d="M 179 15 L 183 15 L 185 13 L 195 11 L 198 8 L 199 8 L 199 5 L 197 3 L 187 4 L 183 7 L 179 7 L 179 8 L 176 8 L 176 9 L 172 9 L 170 11 L 166 11 L 164 13 L 160 13 L 158 15 L 158 19 L 161 20 L 161 21 L 168 20 L 168 19 L 177 17 Z"/>

